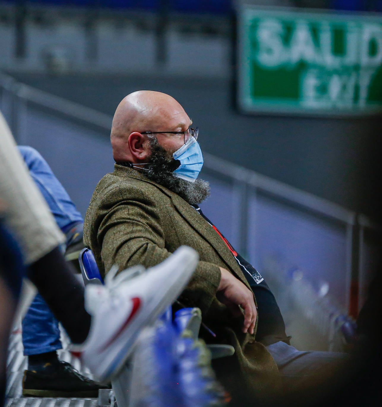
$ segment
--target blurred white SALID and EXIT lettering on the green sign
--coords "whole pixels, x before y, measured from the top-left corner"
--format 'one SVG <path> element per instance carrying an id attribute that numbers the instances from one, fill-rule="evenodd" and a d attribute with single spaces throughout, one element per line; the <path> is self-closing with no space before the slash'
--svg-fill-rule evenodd
<path id="1" fill-rule="evenodd" d="M 382 26 L 303 19 L 290 26 L 287 35 L 281 20 L 258 22 L 252 38 L 257 44 L 253 55 L 257 63 L 267 69 L 305 63 L 308 67 L 300 78 L 300 101 L 307 107 L 364 107 L 373 74 L 382 64 Z M 340 55 L 333 49 L 339 41 L 336 30 L 342 33 Z"/>

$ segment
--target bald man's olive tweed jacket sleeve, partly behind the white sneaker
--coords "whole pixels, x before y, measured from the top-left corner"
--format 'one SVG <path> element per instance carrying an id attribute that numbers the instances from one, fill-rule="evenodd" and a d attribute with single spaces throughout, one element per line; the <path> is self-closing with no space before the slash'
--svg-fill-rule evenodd
<path id="1" fill-rule="evenodd" d="M 119 270 L 137 264 L 152 267 L 171 254 L 165 247 L 163 228 L 151 199 L 139 190 L 131 195 L 133 199 L 121 200 L 121 196 L 103 199 L 108 204 L 102 208 L 105 216 L 99 225 L 97 240 L 102 247 L 106 272 L 113 264 L 117 264 Z M 110 203 L 113 201 L 117 203 Z M 199 261 L 179 300 L 206 312 L 215 298 L 220 278 L 219 266 Z"/>

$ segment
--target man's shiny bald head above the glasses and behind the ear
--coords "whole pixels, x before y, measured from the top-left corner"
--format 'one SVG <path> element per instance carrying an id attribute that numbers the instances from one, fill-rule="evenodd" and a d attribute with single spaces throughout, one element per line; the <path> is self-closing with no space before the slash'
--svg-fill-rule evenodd
<path id="1" fill-rule="evenodd" d="M 170 95 L 153 90 L 130 93 L 113 117 L 110 141 L 115 161 L 132 161 L 131 134 L 144 131 L 181 131 L 190 125 L 183 107 Z"/>

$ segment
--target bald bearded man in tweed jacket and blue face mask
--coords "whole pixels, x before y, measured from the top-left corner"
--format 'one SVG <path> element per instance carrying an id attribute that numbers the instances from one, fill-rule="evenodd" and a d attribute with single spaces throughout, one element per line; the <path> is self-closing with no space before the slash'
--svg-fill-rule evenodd
<path id="1" fill-rule="evenodd" d="M 252 403 L 269 401 L 281 376 L 309 377 L 342 354 L 290 346 L 262 276 L 201 213 L 198 204 L 210 190 L 197 179 L 203 157 L 191 124 L 183 107 L 161 92 L 138 91 L 121 101 L 110 136 L 114 172 L 95 189 L 84 242 L 102 273 L 114 263 L 122 269 L 155 265 L 180 245 L 197 250 L 198 267 L 179 302 L 201 309 L 203 322 L 216 334 L 214 339 L 201 330 L 203 339 L 234 346 L 232 357 L 214 363 L 234 400 L 245 395 Z"/>

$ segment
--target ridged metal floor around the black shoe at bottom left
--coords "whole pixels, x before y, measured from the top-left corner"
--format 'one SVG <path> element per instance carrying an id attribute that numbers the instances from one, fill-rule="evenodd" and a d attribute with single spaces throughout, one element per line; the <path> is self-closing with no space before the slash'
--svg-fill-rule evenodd
<path id="1" fill-rule="evenodd" d="M 84 368 L 79 359 L 68 352 L 69 339 L 61 329 L 61 342 L 63 349 L 57 354 L 61 360 L 71 363 L 84 376 L 93 379 L 92 374 Z M 9 339 L 7 359 L 7 390 L 5 407 L 95 407 L 96 398 L 47 398 L 47 397 L 23 397 L 22 376 L 27 365 L 27 358 L 23 355 L 21 328 L 15 328 Z"/>

